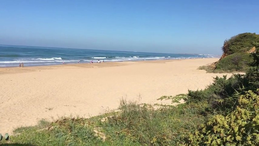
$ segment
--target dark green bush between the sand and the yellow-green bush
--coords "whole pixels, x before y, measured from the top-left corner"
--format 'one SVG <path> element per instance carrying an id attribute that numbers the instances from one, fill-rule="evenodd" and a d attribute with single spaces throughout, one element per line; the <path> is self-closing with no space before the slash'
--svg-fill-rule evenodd
<path id="1" fill-rule="evenodd" d="M 255 72 L 254 68 L 251 68 L 252 71 L 251 69 L 247 71 L 245 75 L 235 74 L 230 78 L 226 75 L 222 78 L 215 77 L 214 82 L 206 89 L 189 91 L 185 99 L 186 103 L 207 101 L 208 109 L 212 109 L 212 112 L 216 110 L 218 113 L 229 113 L 236 108 L 239 95 L 258 88 L 258 69 Z"/>

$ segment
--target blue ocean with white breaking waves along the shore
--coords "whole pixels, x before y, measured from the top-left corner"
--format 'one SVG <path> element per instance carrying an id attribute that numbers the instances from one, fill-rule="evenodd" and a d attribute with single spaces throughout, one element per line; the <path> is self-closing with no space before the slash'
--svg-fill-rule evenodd
<path id="1" fill-rule="evenodd" d="M 63 61 L 65 64 L 75 64 L 78 61 L 90 63 L 98 60 L 112 62 L 212 57 L 218 56 L 0 45 L 0 67 L 18 67 L 22 62 L 24 66 L 41 66 L 63 64 Z"/>

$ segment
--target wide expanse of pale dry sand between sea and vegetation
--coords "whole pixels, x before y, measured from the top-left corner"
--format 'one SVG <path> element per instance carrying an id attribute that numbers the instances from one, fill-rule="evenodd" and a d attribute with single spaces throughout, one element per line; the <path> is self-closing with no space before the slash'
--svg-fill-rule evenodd
<path id="1" fill-rule="evenodd" d="M 59 116 L 94 116 L 115 109 L 122 97 L 142 103 L 163 95 L 204 89 L 216 75 L 197 70 L 214 59 L 0 68 L 0 131 L 35 125 Z"/>

